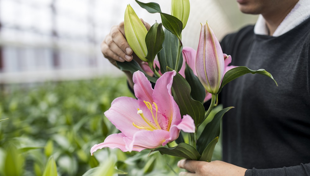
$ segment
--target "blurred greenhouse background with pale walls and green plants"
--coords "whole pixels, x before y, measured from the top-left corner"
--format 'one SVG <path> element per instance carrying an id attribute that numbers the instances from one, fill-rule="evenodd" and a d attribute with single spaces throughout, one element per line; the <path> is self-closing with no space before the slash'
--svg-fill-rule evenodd
<path id="1" fill-rule="evenodd" d="M 153 2 L 170 14 L 170 1 Z M 90 157 L 94 144 L 117 132 L 103 112 L 114 98 L 133 97 L 121 71 L 100 51 L 127 4 L 149 24 L 161 21 L 134 0 L 0 0 L 0 120 L 9 118 L 0 121 L 0 175 L 42 175 L 50 156 L 58 175 L 83 175 L 110 160 L 129 175 L 178 171 L 178 159 L 163 165 L 155 160 L 158 153 L 152 159 L 148 152 L 104 149 Z M 221 40 L 257 19 L 231 0 L 190 4 L 182 37 L 194 49 L 206 20 Z M 221 159 L 220 144 L 214 156 Z"/>

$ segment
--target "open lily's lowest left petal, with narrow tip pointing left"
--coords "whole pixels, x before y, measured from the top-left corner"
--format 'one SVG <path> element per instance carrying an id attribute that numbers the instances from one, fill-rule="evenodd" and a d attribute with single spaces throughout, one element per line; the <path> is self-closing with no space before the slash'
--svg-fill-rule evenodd
<path id="1" fill-rule="evenodd" d="M 123 152 L 128 152 L 128 150 L 125 148 L 124 138 L 126 138 L 126 136 L 123 133 L 109 135 L 104 140 L 103 143 L 95 144 L 90 149 L 90 153 L 91 153 L 91 155 L 93 155 L 93 152 L 96 152 L 98 149 L 102 149 L 104 147 L 108 147 L 108 148 L 112 148 L 112 149 L 113 148 L 119 148 Z M 139 148 L 139 147 L 132 148 L 132 150 L 138 151 L 138 152 L 140 152 L 143 149 L 145 149 L 145 148 Z"/>

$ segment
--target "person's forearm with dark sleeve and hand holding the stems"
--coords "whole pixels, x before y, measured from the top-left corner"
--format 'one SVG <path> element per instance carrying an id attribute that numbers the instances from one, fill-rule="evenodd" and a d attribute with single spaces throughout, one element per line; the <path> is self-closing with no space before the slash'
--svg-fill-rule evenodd
<path id="1" fill-rule="evenodd" d="M 310 176 L 310 163 L 276 169 L 245 169 L 223 161 L 180 160 L 178 166 L 189 171 L 180 172 L 180 176 Z"/>

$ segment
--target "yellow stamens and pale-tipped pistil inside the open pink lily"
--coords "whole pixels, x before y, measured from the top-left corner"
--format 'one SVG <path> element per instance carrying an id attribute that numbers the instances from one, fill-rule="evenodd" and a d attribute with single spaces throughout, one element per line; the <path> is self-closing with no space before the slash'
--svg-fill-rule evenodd
<path id="1" fill-rule="evenodd" d="M 154 116 L 154 113 L 153 113 L 153 107 L 152 107 L 152 104 L 148 101 L 143 101 L 146 105 L 146 107 L 148 107 L 148 110 L 150 110 L 151 114 L 152 114 L 152 117 L 153 117 L 153 120 L 156 124 L 156 126 L 153 125 L 152 122 L 150 122 L 143 114 L 143 111 L 139 108 L 138 109 L 138 112 L 137 114 L 141 116 L 141 118 L 144 120 L 144 122 L 146 122 L 148 124 L 147 127 L 140 127 L 136 124 L 134 124 L 134 122 L 132 122 L 132 124 L 134 125 L 134 127 L 136 128 L 139 128 L 139 129 L 144 129 L 144 130 L 149 130 L 149 131 L 153 131 L 153 130 L 161 130 L 162 128 L 159 126 L 159 123 L 158 123 L 158 120 L 157 120 L 157 111 L 158 111 L 158 108 L 157 108 L 157 105 L 156 103 L 153 102 L 154 106 L 155 106 L 155 109 L 156 109 L 156 114 Z"/>

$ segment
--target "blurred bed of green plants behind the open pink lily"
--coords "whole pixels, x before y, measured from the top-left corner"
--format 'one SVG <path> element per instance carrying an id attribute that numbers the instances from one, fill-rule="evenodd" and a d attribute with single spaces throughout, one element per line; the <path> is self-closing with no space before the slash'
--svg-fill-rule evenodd
<path id="1" fill-rule="evenodd" d="M 148 157 L 150 150 L 104 148 L 90 156 L 94 144 L 118 132 L 103 112 L 120 96 L 133 97 L 125 78 L 6 85 L 0 92 L 0 119 L 9 118 L 0 122 L 0 175 L 176 175 L 180 158 Z M 215 150 L 221 159 L 221 146 Z"/>

